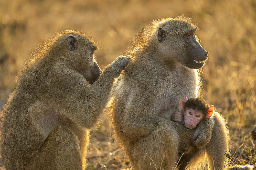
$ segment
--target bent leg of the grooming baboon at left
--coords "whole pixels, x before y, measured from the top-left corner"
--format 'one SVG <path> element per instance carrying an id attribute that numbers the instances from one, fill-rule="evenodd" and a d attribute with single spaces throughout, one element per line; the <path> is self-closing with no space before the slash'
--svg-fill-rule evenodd
<path id="1" fill-rule="evenodd" d="M 85 167 L 78 138 L 65 126 L 59 126 L 49 134 L 28 167 L 41 170 L 82 168 Z"/>

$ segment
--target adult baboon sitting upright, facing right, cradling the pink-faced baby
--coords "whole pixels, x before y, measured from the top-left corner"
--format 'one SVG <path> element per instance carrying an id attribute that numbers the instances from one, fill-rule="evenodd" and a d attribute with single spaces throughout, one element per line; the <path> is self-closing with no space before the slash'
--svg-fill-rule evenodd
<path id="1" fill-rule="evenodd" d="M 184 135 L 191 136 L 199 149 L 191 166 L 206 160 L 210 169 L 224 168 L 229 134 L 219 113 L 196 129 L 171 121 L 173 103 L 201 92 L 197 69 L 208 52 L 198 42 L 197 29 L 185 16 L 155 20 L 137 33 L 132 48 L 123 53 L 132 60 L 115 81 L 109 106 L 115 139 L 133 169 L 175 168 L 182 138 L 177 128 L 186 129 Z"/>

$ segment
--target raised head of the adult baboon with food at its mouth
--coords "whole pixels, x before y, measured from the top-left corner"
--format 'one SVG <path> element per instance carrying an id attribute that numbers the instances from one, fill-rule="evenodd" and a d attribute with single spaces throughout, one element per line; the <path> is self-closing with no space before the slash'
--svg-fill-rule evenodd
<path id="1" fill-rule="evenodd" d="M 199 44 L 195 32 L 198 26 L 184 16 L 158 21 L 157 40 L 166 60 L 175 60 L 191 69 L 204 65 L 208 52 Z"/>

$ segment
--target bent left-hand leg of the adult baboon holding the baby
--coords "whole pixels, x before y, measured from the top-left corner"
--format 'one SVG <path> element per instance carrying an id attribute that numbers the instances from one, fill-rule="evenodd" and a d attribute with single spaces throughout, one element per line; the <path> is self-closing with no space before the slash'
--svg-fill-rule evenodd
<path id="1" fill-rule="evenodd" d="M 133 169 L 173 169 L 179 147 L 174 129 L 170 124 L 159 125 L 149 136 L 131 142 L 126 153 Z"/>

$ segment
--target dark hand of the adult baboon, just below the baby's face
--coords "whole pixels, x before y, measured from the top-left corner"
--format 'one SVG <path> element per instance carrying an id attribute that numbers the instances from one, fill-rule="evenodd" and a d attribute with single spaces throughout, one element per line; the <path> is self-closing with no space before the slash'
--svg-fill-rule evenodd
<path id="1" fill-rule="evenodd" d="M 196 145 L 197 148 L 204 148 L 210 139 L 211 133 L 204 128 L 198 127 L 191 139 L 191 142 Z"/>

